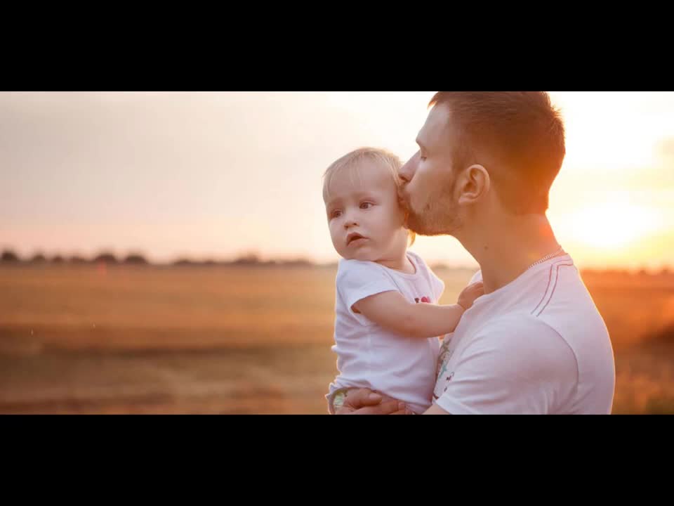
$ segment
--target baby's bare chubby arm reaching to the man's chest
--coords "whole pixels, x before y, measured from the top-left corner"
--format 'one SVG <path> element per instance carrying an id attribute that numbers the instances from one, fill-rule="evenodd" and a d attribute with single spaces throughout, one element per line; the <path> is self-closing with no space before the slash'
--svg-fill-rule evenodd
<path id="1" fill-rule="evenodd" d="M 463 312 L 484 294 L 482 283 L 473 283 L 458 296 L 458 304 L 415 304 L 400 292 L 382 292 L 360 299 L 353 309 L 397 334 L 428 339 L 454 332 Z"/>

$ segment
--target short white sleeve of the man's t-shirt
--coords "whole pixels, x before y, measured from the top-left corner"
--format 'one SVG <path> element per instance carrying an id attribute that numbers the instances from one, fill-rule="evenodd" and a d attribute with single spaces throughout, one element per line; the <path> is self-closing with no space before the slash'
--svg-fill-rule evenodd
<path id="1" fill-rule="evenodd" d="M 534 318 L 489 325 L 461 351 L 437 405 L 453 415 L 547 414 L 578 382 L 576 356 Z"/>

